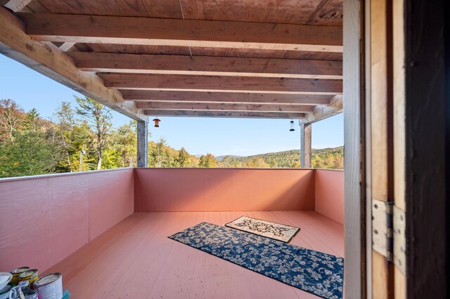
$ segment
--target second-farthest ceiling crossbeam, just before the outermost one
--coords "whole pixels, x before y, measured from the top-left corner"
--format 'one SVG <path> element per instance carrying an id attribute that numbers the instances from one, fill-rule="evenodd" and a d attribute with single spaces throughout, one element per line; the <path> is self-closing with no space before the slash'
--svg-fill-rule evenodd
<path id="1" fill-rule="evenodd" d="M 314 106 L 234 104 L 234 103 L 193 103 L 193 102 L 137 102 L 139 109 L 186 110 L 186 111 L 257 111 L 257 112 L 311 112 Z"/>

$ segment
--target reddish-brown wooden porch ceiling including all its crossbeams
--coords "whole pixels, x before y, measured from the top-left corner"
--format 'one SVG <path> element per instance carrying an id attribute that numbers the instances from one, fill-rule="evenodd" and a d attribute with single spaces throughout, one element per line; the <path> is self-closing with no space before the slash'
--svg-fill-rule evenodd
<path id="1" fill-rule="evenodd" d="M 309 122 L 342 112 L 342 0 L 0 3 L 117 93 L 110 107 Z"/>

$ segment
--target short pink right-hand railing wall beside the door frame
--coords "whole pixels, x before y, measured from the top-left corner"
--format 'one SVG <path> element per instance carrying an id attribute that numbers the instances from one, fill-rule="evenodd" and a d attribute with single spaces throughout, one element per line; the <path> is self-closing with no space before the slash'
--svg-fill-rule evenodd
<path id="1" fill-rule="evenodd" d="M 316 212 L 344 224 L 344 172 L 316 169 Z"/>

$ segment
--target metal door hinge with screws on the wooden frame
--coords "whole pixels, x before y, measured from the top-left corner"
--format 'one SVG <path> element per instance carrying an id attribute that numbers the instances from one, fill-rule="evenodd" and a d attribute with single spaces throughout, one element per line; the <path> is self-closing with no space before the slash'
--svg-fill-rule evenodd
<path id="1" fill-rule="evenodd" d="M 405 274 L 405 213 L 391 201 L 372 199 L 372 248 Z"/>

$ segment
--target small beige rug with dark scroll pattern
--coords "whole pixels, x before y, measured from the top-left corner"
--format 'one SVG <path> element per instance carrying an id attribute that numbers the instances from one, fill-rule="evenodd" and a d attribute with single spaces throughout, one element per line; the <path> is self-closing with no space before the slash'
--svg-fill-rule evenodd
<path id="1" fill-rule="evenodd" d="M 262 237 L 275 239 L 289 243 L 291 239 L 300 231 L 300 228 L 289 225 L 282 225 L 275 222 L 260 220 L 242 216 L 234 221 L 226 223 L 226 227 L 235 228 L 244 232 L 251 232 Z"/>

